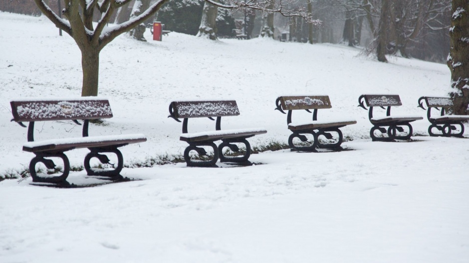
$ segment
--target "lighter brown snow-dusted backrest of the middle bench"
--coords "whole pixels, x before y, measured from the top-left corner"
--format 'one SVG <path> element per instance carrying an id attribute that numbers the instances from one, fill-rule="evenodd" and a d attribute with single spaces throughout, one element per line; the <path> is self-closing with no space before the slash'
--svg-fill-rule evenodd
<path id="1" fill-rule="evenodd" d="M 281 96 L 282 110 L 309 110 L 332 108 L 329 96 Z"/>

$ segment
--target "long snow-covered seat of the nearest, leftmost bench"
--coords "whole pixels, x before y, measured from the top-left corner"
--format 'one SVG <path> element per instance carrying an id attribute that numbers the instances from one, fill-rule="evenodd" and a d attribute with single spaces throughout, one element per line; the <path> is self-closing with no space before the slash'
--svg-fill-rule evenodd
<path id="1" fill-rule="evenodd" d="M 138 143 L 146 140 L 147 138 L 145 135 L 141 133 L 49 139 L 26 142 L 23 144 L 23 151 L 38 152 L 74 148 L 104 147 L 116 144 Z"/>

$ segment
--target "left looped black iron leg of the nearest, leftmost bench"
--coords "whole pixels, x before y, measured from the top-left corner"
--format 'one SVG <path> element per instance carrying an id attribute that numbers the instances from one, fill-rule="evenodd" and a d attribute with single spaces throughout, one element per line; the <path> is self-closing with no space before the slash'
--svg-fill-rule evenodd
<path id="1" fill-rule="evenodd" d="M 29 162 L 29 173 L 31 174 L 32 181 L 37 183 L 55 183 L 55 184 L 69 184 L 66 179 L 70 172 L 70 162 L 68 161 L 67 155 L 63 152 L 34 152 L 36 157 L 32 158 Z M 41 162 L 47 167 L 47 169 L 54 169 L 55 163 L 51 159 L 45 157 L 57 157 L 63 161 L 63 173 L 59 176 L 41 177 L 36 173 L 36 164 Z"/>

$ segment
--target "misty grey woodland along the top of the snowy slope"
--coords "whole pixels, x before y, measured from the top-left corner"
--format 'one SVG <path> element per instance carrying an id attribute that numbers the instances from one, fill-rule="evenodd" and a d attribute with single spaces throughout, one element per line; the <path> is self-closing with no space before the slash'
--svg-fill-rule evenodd
<path id="1" fill-rule="evenodd" d="M 58 10 L 57 0 L 45 2 Z M 148 7 L 155 0 L 137 2 Z M 322 25 L 314 27 L 302 17 L 288 18 L 279 13 L 253 10 L 233 13 L 204 0 L 170 0 L 146 22 L 162 21 L 167 30 L 211 39 L 235 37 L 237 28 L 247 39 L 259 35 L 278 38 L 282 32 L 288 32 L 288 41 L 342 42 L 367 47 L 380 61 L 386 61 L 386 54 L 395 54 L 443 63 L 448 56 L 452 4 L 449 0 L 296 0 L 288 4 L 306 8 Z M 129 20 L 135 5 L 136 0 L 132 0 L 119 8 L 110 21 Z M 41 13 L 34 0 L 3 0 L 0 10 Z M 99 18 L 96 13 L 93 20 Z"/>

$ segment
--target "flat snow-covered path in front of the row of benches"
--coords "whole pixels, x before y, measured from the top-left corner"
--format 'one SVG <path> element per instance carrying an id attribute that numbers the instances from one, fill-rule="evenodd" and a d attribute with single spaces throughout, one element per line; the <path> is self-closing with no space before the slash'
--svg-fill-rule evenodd
<path id="1" fill-rule="evenodd" d="M 417 140 L 265 152 L 251 167 L 124 169 L 142 180 L 93 188 L 6 180 L 0 259 L 468 262 L 469 157 L 454 152 L 469 140 Z"/>

